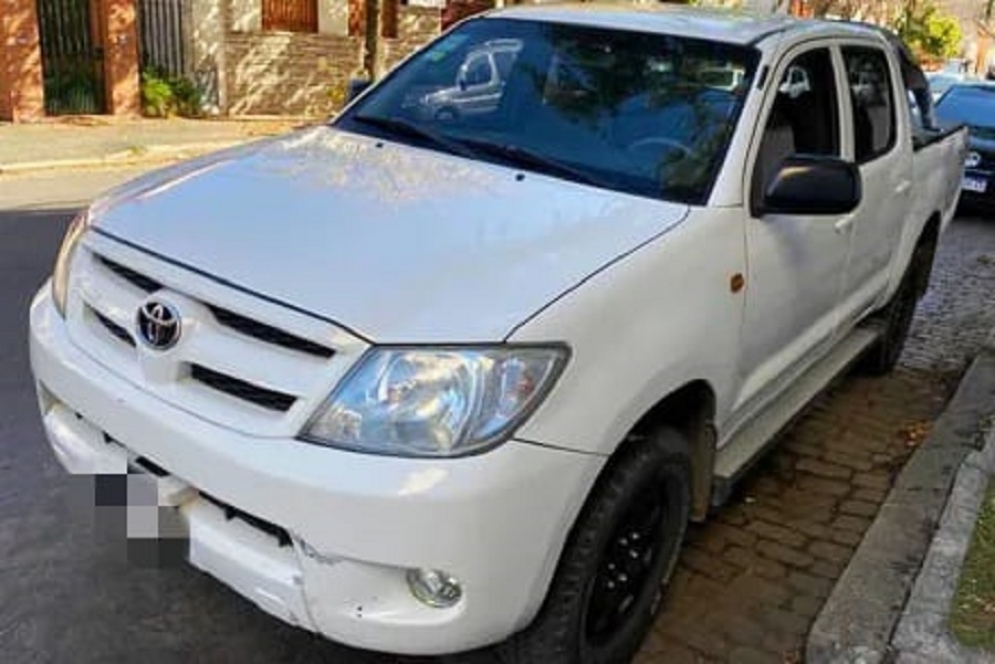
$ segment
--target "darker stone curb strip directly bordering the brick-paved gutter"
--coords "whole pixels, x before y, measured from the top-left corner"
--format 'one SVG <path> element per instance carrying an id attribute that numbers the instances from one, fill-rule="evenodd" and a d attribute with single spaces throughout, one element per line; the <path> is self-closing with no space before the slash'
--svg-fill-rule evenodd
<path id="1" fill-rule="evenodd" d="M 995 409 L 995 333 L 971 362 L 929 436 L 902 469 L 809 632 L 809 664 L 890 661 L 891 638 L 955 475 L 984 442 Z"/>

